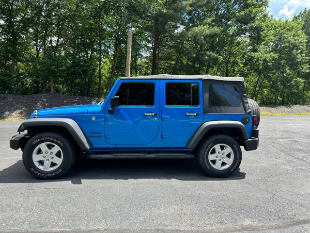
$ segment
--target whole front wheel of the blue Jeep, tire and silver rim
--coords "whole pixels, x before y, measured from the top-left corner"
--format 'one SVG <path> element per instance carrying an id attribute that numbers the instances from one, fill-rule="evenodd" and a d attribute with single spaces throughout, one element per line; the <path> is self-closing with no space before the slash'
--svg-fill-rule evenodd
<path id="1" fill-rule="evenodd" d="M 73 166 L 75 158 L 74 146 L 60 133 L 39 133 L 23 150 L 26 169 L 39 179 L 60 178 Z"/>

